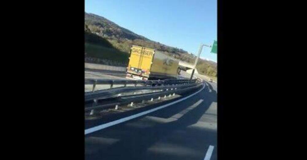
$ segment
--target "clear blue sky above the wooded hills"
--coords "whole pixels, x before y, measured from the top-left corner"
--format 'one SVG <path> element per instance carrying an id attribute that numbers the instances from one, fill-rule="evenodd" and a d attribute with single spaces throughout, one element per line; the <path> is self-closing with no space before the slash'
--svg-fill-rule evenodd
<path id="1" fill-rule="evenodd" d="M 217 0 L 85 0 L 85 12 L 194 55 L 217 40 Z M 200 57 L 217 61 L 210 50 Z"/>

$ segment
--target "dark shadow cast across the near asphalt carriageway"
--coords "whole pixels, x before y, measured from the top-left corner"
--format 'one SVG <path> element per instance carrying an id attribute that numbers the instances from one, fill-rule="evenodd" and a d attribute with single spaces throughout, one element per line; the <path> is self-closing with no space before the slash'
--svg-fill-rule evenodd
<path id="1" fill-rule="evenodd" d="M 213 90 L 211 84 L 205 83 L 206 87 L 203 91 L 183 102 L 179 102 L 175 105 L 158 110 L 154 113 L 150 113 L 146 116 L 157 117 L 163 119 L 172 118 L 173 115 L 181 113 L 188 107 L 192 106 L 196 102 L 200 102 L 197 106 L 183 114 L 175 121 L 141 121 L 141 118 L 137 118 L 133 121 L 116 125 L 111 128 L 106 128 L 102 131 L 94 132 L 91 137 L 103 137 L 111 140 L 115 140 L 114 143 L 106 144 L 101 143 L 86 143 L 85 145 L 85 159 L 193 159 L 197 156 L 203 156 L 202 152 L 196 152 L 192 154 L 192 151 L 204 150 L 204 146 L 197 146 L 197 144 L 215 143 L 216 144 L 216 131 L 195 131 L 196 128 L 188 128 L 197 123 L 204 113 L 208 110 L 209 106 L 213 102 L 217 102 L 216 91 Z M 127 125 L 129 123 L 136 123 L 137 127 Z M 177 133 L 181 131 L 182 133 Z M 173 133 L 176 132 L 173 136 Z M 193 134 L 192 134 L 193 133 Z M 201 133 L 201 134 L 200 134 Z M 207 134 L 208 138 L 204 139 L 204 134 Z M 187 137 L 185 135 L 195 135 L 195 137 Z M 197 137 L 199 136 L 199 137 Z M 163 138 L 169 137 L 167 144 L 162 144 L 161 147 L 165 147 L 165 151 L 168 153 L 153 154 L 148 149 L 156 144 L 158 141 L 163 141 Z M 213 138 L 210 138 L 213 137 Z M 176 140 L 172 140 L 172 139 Z M 169 142 L 171 141 L 171 142 Z M 183 145 L 184 144 L 184 145 Z M 167 147 L 167 146 L 174 147 Z M 188 152 L 178 153 L 176 146 L 184 146 L 184 150 Z M 97 149 L 98 148 L 98 149 Z M 94 151 L 95 149 L 95 151 Z M 168 149 L 168 150 L 166 150 Z M 174 150 L 174 151 L 172 151 Z M 176 154 L 177 152 L 177 154 Z M 170 154 L 174 153 L 174 154 Z M 199 154 L 199 155 L 198 155 Z M 187 156 L 187 157 L 185 157 Z M 196 157 L 193 157 L 196 156 Z M 198 157 L 199 158 L 199 157 Z"/>

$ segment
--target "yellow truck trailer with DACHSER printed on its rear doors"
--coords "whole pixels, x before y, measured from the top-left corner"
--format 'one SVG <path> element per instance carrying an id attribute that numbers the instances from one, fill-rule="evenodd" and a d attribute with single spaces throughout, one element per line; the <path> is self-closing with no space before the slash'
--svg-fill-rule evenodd
<path id="1" fill-rule="evenodd" d="M 134 45 L 131 47 L 127 78 L 163 80 L 177 78 L 179 72 L 179 61 L 162 51 Z"/>

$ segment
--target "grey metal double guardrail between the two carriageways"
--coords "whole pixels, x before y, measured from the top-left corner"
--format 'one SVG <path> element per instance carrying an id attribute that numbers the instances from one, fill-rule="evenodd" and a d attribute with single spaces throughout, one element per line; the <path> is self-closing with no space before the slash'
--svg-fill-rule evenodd
<path id="1" fill-rule="evenodd" d="M 133 102 L 140 102 L 144 100 L 160 99 L 161 97 L 171 96 L 175 94 L 182 94 L 187 91 L 196 90 L 200 86 L 204 85 L 201 79 L 194 80 L 99 80 L 99 79 L 86 79 L 85 84 L 109 84 L 111 87 L 109 89 L 85 93 L 85 101 L 87 105 L 85 106 L 85 111 L 91 111 L 90 115 L 94 113 L 96 109 L 117 109 L 119 105 L 126 105 Z M 113 88 L 113 84 L 143 84 L 144 86 L 138 87 L 116 87 Z M 147 86 L 150 85 L 150 86 Z M 136 85 L 135 85 L 136 86 Z M 142 94 L 135 95 L 136 91 L 147 91 Z M 154 91 L 155 92 L 151 92 Z M 124 95 L 123 93 L 133 93 Z"/>

